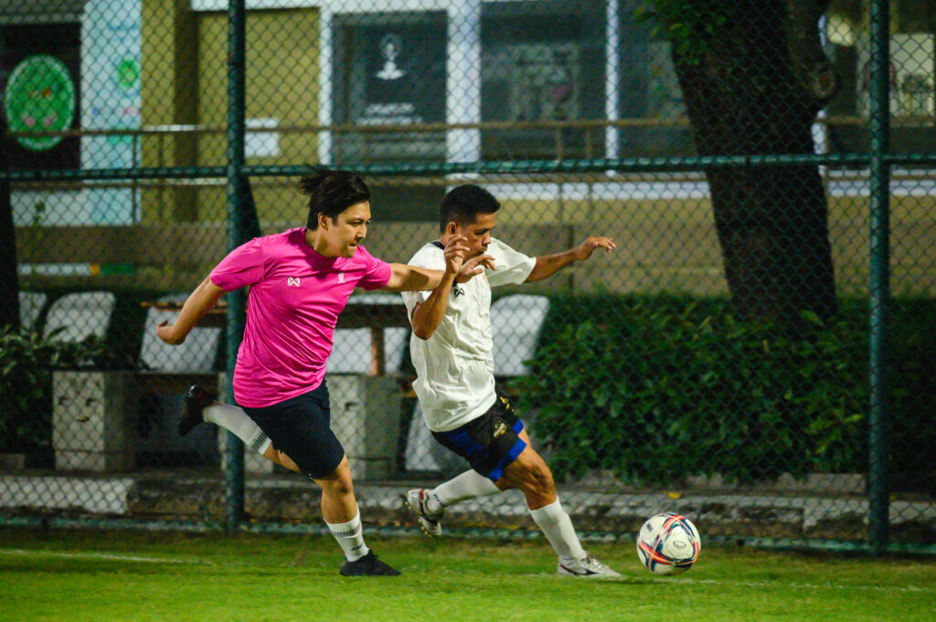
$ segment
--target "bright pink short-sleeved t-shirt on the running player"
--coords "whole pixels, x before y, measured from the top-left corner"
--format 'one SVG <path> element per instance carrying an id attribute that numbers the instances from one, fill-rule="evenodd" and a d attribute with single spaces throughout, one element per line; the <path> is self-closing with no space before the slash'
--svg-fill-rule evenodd
<path id="1" fill-rule="evenodd" d="M 338 314 L 356 285 L 386 285 L 390 265 L 363 246 L 351 258 L 322 256 L 300 227 L 239 246 L 209 277 L 226 292 L 251 286 L 234 397 L 263 408 L 322 383 Z"/>

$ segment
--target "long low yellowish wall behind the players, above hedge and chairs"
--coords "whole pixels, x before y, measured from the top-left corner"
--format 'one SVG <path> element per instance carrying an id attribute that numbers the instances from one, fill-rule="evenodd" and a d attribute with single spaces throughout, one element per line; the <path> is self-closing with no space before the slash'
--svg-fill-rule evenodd
<path id="1" fill-rule="evenodd" d="M 284 198 L 277 198 L 282 193 Z M 272 233 L 305 224 L 302 197 L 290 186 L 256 192 Z M 285 209 L 284 209 L 285 206 Z M 895 196 L 891 201 L 892 288 L 896 296 L 936 296 L 936 196 Z M 282 211 L 280 211 L 282 210 Z M 829 228 L 840 295 L 868 291 L 868 199 L 833 196 Z M 284 215 L 287 218 L 282 218 Z M 382 222 L 379 196 L 365 246 L 390 262 L 405 262 L 438 237 L 435 223 Z M 496 237 L 532 255 L 563 251 L 589 235 L 607 235 L 618 250 L 577 264 L 526 291 L 573 287 L 579 292 L 671 292 L 724 296 L 722 252 L 708 199 L 651 200 L 505 200 L 498 212 Z M 138 268 L 128 276 L 147 286 L 192 289 L 226 253 L 226 224 L 140 225 L 136 227 L 20 227 L 21 263 L 127 263 Z M 122 277 L 115 277 L 117 279 Z M 71 278 L 69 282 L 74 282 Z M 95 285 L 103 282 L 99 277 Z"/>

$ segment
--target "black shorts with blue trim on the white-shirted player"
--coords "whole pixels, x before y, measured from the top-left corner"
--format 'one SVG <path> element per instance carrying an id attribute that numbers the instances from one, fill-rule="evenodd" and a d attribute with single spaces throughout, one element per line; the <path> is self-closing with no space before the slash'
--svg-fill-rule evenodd
<path id="1" fill-rule="evenodd" d="M 519 438 L 522 430 L 513 404 L 498 394 L 488 412 L 453 430 L 432 432 L 432 436 L 466 458 L 472 469 L 497 482 L 507 465 L 526 449 L 526 442 Z"/>

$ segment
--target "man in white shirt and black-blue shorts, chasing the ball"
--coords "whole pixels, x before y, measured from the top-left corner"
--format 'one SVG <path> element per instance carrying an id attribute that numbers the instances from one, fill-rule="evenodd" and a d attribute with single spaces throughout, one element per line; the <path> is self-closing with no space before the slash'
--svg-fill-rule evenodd
<path id="1" fill-rule="evenodd" d="M 492 286 L 539 281 L 588 259 L 596 249 L 610 253 L 615 245 L 608 238 L 589 238 L 564 253 L 529 257 L 491 238 L 500 207 L 480 186 L 453 188 L 440 205 L 442 235 L 409 261 L 420 268 L 445 269 L 446 243 L 462 237 L 466 240 L 462 243 L 469 247 L 467 258 L 475 258 L 489 269 L 464 283 L 455 282 L 446 273 L 431 292 L 402 294 L 413 325 L 410 353 L 417 370 L 413 388 L 426 425 L 436 441 L 472 466 L 472 470 L 431 490 L 410 490 L 406 503 L 417 514 L 423 530 L 437 536 L 442 533 L 446 507 L 518 488 L 526 496 L 534 522 L 559 557 L 560 574 L 620 576 L 582 548 L 556 495 L 551 471 L 531 446 L 510 400 L 497 393 L 490 326 Z"/>

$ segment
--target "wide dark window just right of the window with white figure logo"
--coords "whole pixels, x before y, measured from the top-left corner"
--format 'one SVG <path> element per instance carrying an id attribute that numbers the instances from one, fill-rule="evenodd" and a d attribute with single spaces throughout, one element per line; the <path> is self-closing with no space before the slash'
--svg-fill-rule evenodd
<path id="1" fill-rule="evenodd" d="M 486 160 L 600 157 L 605 118 L 605 3 L 489 2 L 481 11 L 481 120 Z M 547 123 L 546 126 L 530 123 Z"/>

